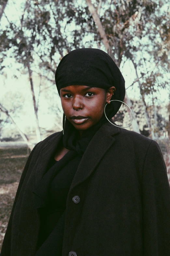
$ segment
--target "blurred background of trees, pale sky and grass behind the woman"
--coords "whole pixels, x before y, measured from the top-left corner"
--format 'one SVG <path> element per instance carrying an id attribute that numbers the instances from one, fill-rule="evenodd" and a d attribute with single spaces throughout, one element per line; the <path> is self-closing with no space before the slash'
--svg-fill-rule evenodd
<path id="1" fill-rule="evenodd" d="M 54 74 L 71 50 L 116 62 L 126 129 L 158 142 L 170 182 L 169 17 L 169 0 L 0 0 L 0 248 L 28 155 L 63 129 Z M 113 120 L 130 124 L 125 104 Z"/>

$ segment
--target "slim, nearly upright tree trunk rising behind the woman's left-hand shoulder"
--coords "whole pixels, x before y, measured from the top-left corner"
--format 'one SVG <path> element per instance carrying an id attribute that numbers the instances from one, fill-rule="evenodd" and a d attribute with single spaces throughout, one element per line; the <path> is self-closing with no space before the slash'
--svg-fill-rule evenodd
<path id="1" fill-rule="evenodd" d="M 33 104 L 34 104 L 34 112 L 35 112 L 35 121 L 36 121 L 36 137 L 37 137 L 37 142 L 41 141 L 41 132 L 40 132 L 40 127 L 39 127 L 39 121 L 38 121 L 38 108 L 36 106 L 36 101 L 35 101 L 35 93 L 34 93 L 34 85 L 33 85 L 33 79 L 32 79 L 32 71 L 30 68 L 30 61 L 29 58 L 27 60 L 27 66 L 28 66 L 28 72 L 29 72 L 29 79 L 30 79 L 30 84 L 31 84 L 31 92 L 33 96 Z"/>

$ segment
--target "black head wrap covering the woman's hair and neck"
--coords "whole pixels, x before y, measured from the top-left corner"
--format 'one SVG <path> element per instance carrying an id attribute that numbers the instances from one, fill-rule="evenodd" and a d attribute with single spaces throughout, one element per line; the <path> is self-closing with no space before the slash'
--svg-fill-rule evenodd
<path id="1" fill-rule="evenodd" d="M 99 49 L 76 49 L 65 55 L 55 72 L 55 82 L 59 95 L 60 89 L 65 86 L 86 85 L 103 89 L 115 86 L 111 100 L 123 101 L 125 96 L 125 80 L 119 68 L 106 52 Z M 105 112 L 108 119 L 119 111 L 120 101 L 107 104 Z M 63 115 L 63 145 L 82 155 L 94 133 L 107 121 L 106 116 L 104 114 L 96 125 L 83 131 L 81 139 L 77 140 L 77 130 Z"/>

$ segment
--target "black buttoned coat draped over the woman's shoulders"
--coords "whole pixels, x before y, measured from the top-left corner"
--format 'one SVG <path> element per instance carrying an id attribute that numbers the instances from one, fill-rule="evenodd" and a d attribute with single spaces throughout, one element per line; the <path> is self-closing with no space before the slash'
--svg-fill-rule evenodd
<path id="1" fill-rule="evenodd" d="M 32 190 L 61 136 L 54 133 L 32 150 L 1 256 L 35 254 L 40 221 Z M 170 255 L 170 187 L 157 142 L 109 122 L 96 132 L 67 196 L 62 256 L 70 255 Z"/>

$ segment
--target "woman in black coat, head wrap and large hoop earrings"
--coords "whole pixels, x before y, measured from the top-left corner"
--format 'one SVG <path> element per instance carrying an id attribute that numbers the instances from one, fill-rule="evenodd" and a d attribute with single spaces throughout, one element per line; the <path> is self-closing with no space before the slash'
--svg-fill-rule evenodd
<path id="1" fill-rule="evenodd" d="M 169 256 L 160 147 L 111 119 L 125 96 L 119 68 L 102 50 L 77 49 L 55 81 L 63 131 L 35 145 L 26 162 L 1 256 Z"/>

